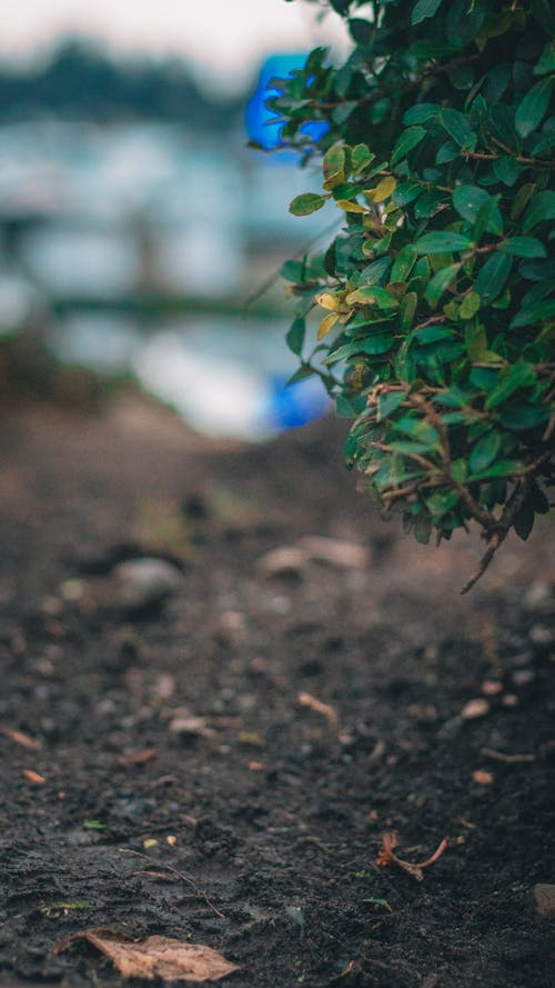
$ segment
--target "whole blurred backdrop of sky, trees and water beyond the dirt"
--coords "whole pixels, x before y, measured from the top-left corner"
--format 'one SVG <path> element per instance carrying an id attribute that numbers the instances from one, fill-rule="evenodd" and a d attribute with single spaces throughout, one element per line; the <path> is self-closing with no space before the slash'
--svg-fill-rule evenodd
<path id="1" fill-rule="evenodd" d="M 4 385 L 40 391 L 61 361 L 137 380 L 200 431 L 236 438 L 322 413 L 317 381 L 284 387 L 296 360 L 272 281 L 329 228 L 287 212 L 319 178 L 246 147 L 275 144 L 268 82 L 315 44 L 345 46 L 340 19 L 284 0 L 3 12 Z"/>

